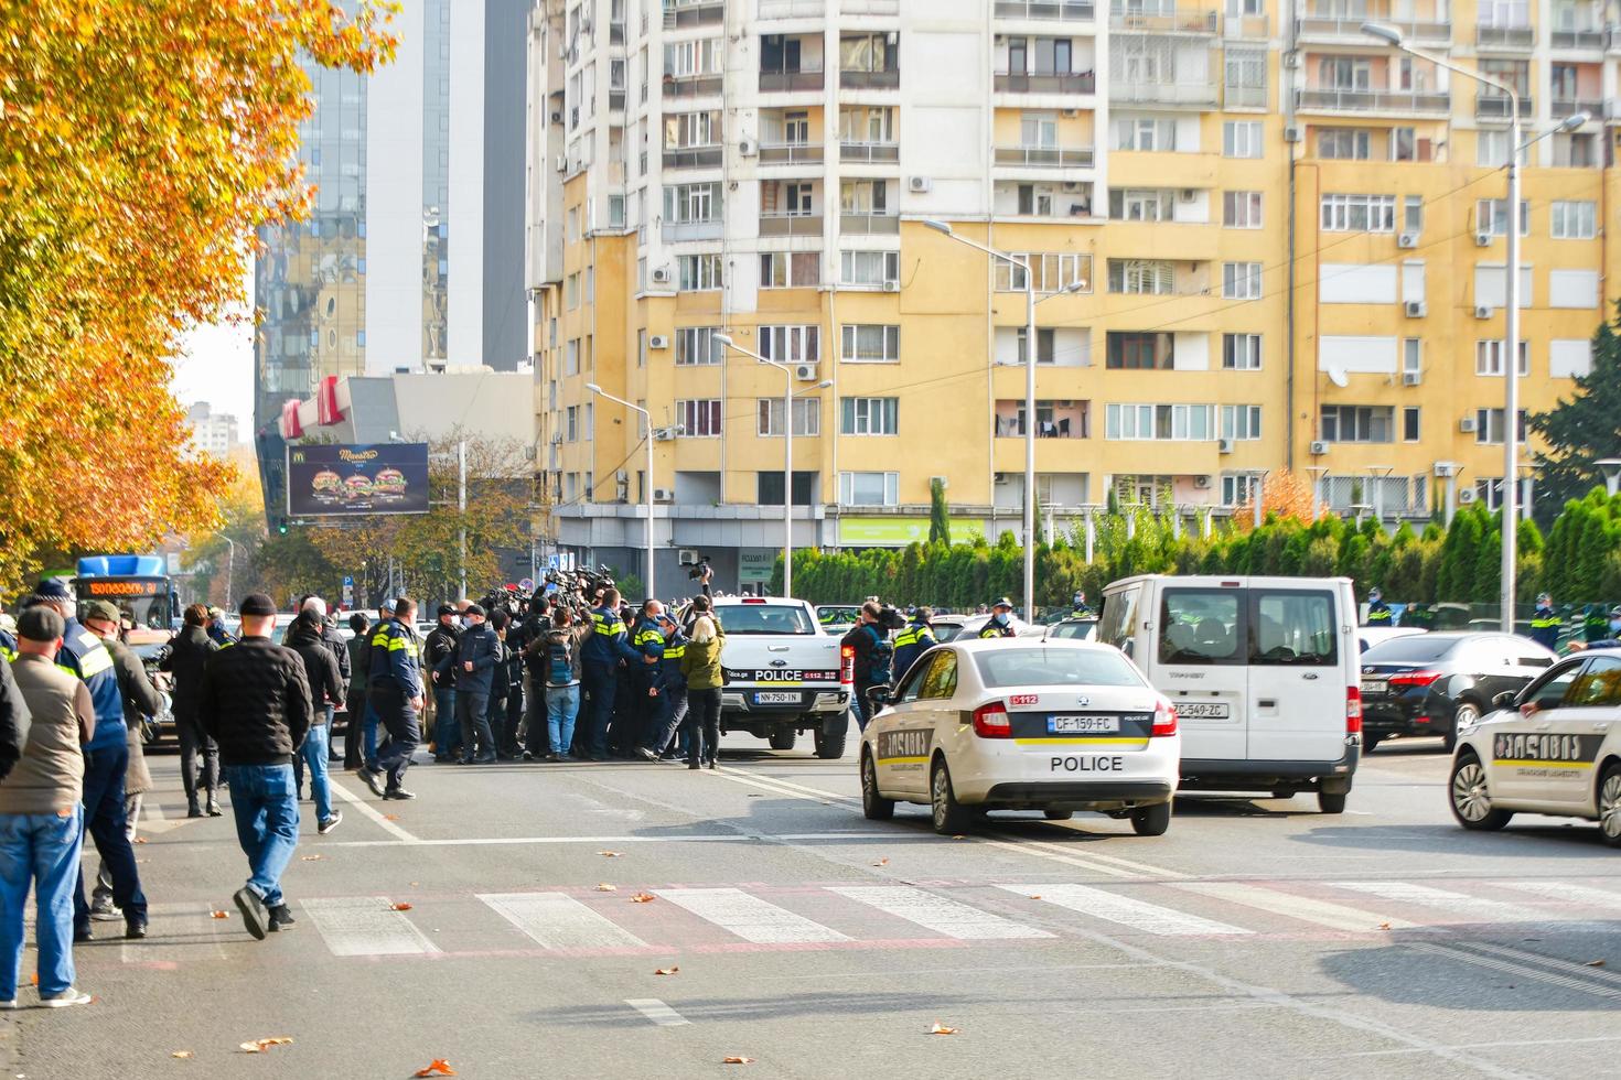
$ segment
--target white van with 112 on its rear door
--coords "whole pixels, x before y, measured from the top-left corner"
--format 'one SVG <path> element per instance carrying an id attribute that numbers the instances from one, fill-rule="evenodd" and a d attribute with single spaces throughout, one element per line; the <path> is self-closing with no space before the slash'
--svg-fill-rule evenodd
<path id="1" fill-rule="evenodd" d="M 1177 706 L 1178 790 L 1316 792 L 1345 810 L 1362 753 L 1357 602 L 1349 578 L 1122 578 L 1097 640 Z"/>

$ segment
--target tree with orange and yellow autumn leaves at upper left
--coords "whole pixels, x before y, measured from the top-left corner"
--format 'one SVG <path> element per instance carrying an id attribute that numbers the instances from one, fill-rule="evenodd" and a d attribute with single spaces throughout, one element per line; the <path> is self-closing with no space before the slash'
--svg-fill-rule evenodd
<path id="1" fill-rule="evenodd" d="M 217 520 L 170 358 L 310 206 L 303 58 L 392 57 L 396 6 L 349 6 L 0 0 L 0 589 Z"/>

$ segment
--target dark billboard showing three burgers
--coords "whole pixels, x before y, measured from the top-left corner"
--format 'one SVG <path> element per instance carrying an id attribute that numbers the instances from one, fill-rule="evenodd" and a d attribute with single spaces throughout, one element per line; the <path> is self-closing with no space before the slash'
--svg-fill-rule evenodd
<path id="1" fill-rule="evenodd" d="M 287 513 L 428 513 L 428 444 L 287 447 Z"/>

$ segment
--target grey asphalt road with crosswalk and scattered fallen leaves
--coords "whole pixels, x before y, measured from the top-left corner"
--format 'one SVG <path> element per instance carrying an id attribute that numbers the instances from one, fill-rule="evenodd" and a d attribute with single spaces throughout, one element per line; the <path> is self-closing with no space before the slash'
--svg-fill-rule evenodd
<path id="1" fill-rule="evenodd" d="M 1089 814 L 994 818 L 963 839 L 935 837 L 922 808 L 867 823 L 854 746 L 817 761 L 734 735 L 718 772 L 426 764 L 412 803 L 342 777 L 340 829 L 314 836 L 305 808 L 285 878 L 298 926 L 264 942 L 230 904 L 245 861 L 229 813 L 186 821 L 175 758 L 154 756 L 160 811 L 138 848 L 152 936 L 125 944 L 99 925 L 109 939 L 76 950 L 96 1002 L 6 1015 L 0 1065 L 62 1078 L 392 1078 L 433 1059 L 475 1078 L 1618 1072 L 1621 855 L 1577 823 L 1457 829 L 1436 742 L 1381 746 L 1344 816 L 1308 797 L 1190 797 L 1164 837 Z M 292 1043 L 238 1049 L 277 1036 Z"/>

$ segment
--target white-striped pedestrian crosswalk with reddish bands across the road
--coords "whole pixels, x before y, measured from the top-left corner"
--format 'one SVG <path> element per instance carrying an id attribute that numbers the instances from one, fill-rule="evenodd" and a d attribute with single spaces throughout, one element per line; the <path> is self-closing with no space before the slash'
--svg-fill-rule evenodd
<path id="1" fill-rule="evenodd" d="M 639 902 L 632 902 L 632 899 Z M 1621 878 L 1597 881 L 1141 881 L 710 886 L 293 900 L 332 957 L 507 952 L 642 955 L 747 949 L 969 947 L 1062 939 L 1247 939 L 1410 931 L 1436 941 L 1537 923 L 1615 933 Z M 240 931 L 209 905 L 154 905 L 152 938 L 117 955 L 152 962 L 165 941 L 217 959 Z M 242 934 L 246 939 L 245 934 Z M 148 955 L 148 954 L 152 955 Z M 169 954 L 164 954 L 165 957 Z M 94 962 L 94 960 L 92 960 Z"/>

